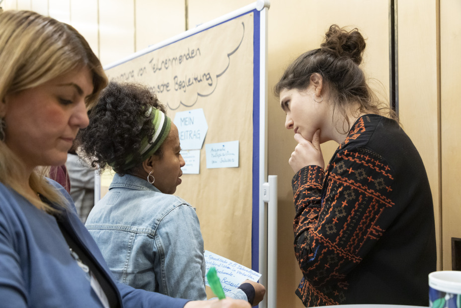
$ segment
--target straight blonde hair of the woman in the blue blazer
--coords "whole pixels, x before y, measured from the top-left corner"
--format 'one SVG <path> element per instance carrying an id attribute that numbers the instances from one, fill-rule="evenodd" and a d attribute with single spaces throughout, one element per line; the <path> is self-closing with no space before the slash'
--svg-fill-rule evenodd
<path id="1" fill-rule="evenodd" d="M 107 77 L 83 36 L 72 26 L 36 12 L 0 12 L 1 103 L 9 93 L 37 87 L 80 67 L 87 67 L 92 73 L 94 90 L 86 102 L 90 108 L 99 92 L 106 87 Z M 3 108 L 0 108 L 0 116 L 4 116 Z M 24 188 L 20 180 L 24 177 L 19 174 L 24 170 L 22 165 L 20 159 L 0 141 L 0 182 L 37 208 L 53 212 L 53 207 L 38 201 Z M 66 199 L 45 179 L 46 170 L 36 168 L 29 177 L 30 187 L 52 203 L 66 206 Z"/>

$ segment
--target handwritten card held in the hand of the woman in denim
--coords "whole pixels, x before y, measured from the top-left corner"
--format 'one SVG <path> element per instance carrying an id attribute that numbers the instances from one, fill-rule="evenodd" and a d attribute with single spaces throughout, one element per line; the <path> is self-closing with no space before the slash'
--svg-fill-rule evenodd
<path id="1" fill-rule="evenodd" d="M 206 272 L 210 267 L 215 267 L 218 272 L 218 278 L 221 281 L 224 292 L 229 292 L 236 289 L 240 284 L 249 279 L 257 282 L 261 277 L 261 274 L 253 271 L 241 264 L 235 263 L 229 259 L 221 257 L 213 252 L 205 250 L 205 264 Z M 205 280 L 205 284 L 208 284 L 208 280 Z"/>

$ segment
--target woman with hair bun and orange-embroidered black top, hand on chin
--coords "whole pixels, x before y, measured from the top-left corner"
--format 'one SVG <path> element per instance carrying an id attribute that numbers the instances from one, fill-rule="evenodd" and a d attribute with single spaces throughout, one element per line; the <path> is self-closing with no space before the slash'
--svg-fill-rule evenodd
<path id="1" fill-rule="evenodd" d="M 357 29 L 332 25 L 275 86 L 298 142 L 289 159 L 303 272 L 296 293 L 306 307 L 427 306 L 436 270 L 431 189 L 415 146 L 367 85 L 364 49 Z M 324 169 L 328 140 L 339 147 Z"/>

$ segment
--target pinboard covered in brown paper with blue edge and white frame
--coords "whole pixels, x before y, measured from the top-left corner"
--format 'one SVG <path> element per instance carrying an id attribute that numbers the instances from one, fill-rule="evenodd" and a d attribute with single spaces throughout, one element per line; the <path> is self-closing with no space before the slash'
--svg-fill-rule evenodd
<path id="1" fill-rule="evenodd" d="M 104 68 L 167 105 L 186 161 L 175 195 L 196 208 L 205 249 L 259 271 L 262 283 L 268 7 L 259 0 Z M 96 193 L 110 181 L 102 175 Z"/>

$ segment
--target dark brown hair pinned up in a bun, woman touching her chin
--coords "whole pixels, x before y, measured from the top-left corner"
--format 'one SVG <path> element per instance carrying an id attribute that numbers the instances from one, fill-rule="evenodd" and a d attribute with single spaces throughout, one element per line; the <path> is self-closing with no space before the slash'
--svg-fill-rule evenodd
<path id="1" fill-rule="evenodd" d="M 360 112 L 387 113 L 397 119 L 392 109 L 380 103 L 359 67 L 365 46 L 365 39 L 357 28 L 348 31 L 331 25 L 320 48 L 305 52 L 285 70 L 274 87 L 275 96 L 279 97 L 284 89 L 306 90 L 310 76 L 318 73 L 330 86 L 334 110 L 344 115 L 345 123 L 349 123 L 348 105 L 355 102 L 360 103 Z"/>

